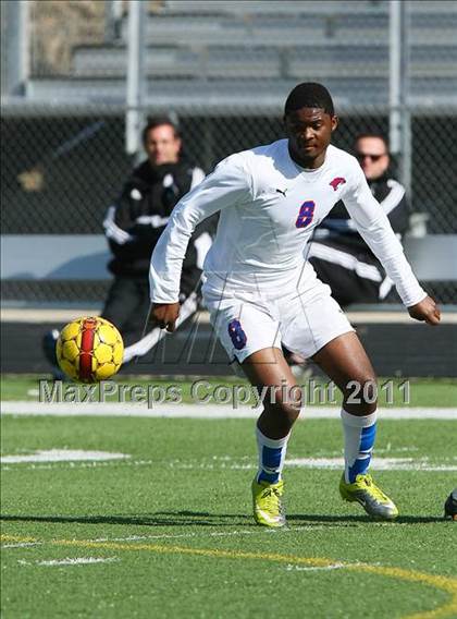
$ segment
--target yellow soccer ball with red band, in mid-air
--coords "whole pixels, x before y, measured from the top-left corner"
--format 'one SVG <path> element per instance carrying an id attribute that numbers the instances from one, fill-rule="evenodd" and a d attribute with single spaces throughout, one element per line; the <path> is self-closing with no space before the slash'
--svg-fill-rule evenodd
<path id="1" fill-rule="evenodd" d="M 59 366 L 79 383 L 97 383 L 113 376 L 122 365 L 124 342 L 104 318 L 88 316 L 69 323 L 55 345 Z"/>

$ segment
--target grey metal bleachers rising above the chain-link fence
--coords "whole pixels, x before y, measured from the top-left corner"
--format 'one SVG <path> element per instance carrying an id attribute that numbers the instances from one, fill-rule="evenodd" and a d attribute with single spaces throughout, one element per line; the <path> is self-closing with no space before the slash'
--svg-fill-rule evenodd
<path id="1" fill-rule="evenodd" d="M 385 105 L 390 73 L 390 9 L 379 0 L 220 2 L 165 0 L 146 24 L 151 104 L 245 105 L 265 90 L 270 99 L 299 80 L 322 80 L 337 99 Z M 409 80 L 415 102 L 457 98 L 457 2 L 409 2 Z M 121 37 L 73 50 L 73 71 L 33 78 L 28 96 L 52 89 L 87 100 L 125 96 L 127 16 Z M 197 84 L 198 83 L 198 84 Z M 214 104 L 215 105 L 215 104 Z"/>

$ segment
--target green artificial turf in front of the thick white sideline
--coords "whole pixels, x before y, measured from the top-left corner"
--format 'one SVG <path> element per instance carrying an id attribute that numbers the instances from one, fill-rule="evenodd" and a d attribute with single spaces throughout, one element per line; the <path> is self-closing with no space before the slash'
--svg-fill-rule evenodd
<path id="1" fill-rule="evenodd" d="M 443 520 L 456 433 L 380 422 L 378 457 L 407 468 L 373 471 L 397 522 L 344 503 L 338 470 L 287 465 L 288 527 L 270 531 L 251 519 L 252 420 L 4 415 L 3 456 L 129 458 L 3 464 L 2 616 L 456 617 L 457 523 Z M 305 418 L 287 458 L 341 453 L 337 420 Z"/>

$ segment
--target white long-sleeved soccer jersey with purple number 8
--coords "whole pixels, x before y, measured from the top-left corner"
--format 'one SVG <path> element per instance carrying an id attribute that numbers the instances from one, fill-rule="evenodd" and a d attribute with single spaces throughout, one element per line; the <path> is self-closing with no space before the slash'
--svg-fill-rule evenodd
<path id="1" fill-rule="evenodd" d="M 358 161 L 329 146 L 324 163 L 306 170 L 291 158 L 287 139 L 280 139 L 227 157 L 180 201 L 152 254 L 151 300 L 178 300 L 188 240 L 195 227 L 217 211 L 218 233 L 203 266 L 206 288 L 275 290 L 281 295 L 284 287 L 312 274 L 306 263 L 307 243 L 339 199 L 395 282 L 404 304 L 424 299 Z"/>

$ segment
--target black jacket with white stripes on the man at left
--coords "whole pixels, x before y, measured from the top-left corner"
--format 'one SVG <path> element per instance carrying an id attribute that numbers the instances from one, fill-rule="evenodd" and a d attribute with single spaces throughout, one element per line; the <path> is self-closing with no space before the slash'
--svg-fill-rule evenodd
<path id="1" fill-rule="evenodd" d="M 152 251 L 171 211 L 203 175 L 199 168 L 184 159 L 157 167 L 145 161 L 134 169 L 103 221 L 114 256 L 109 264 L 111 272 L 147 279 Z M 213 227 L 213 222 L 198 227 L 190 239 L 181 280 L 181 290 L 186 295 L 194 290 L 201 275 L 195 241 L 205 232 L 212 235 Z"/>

